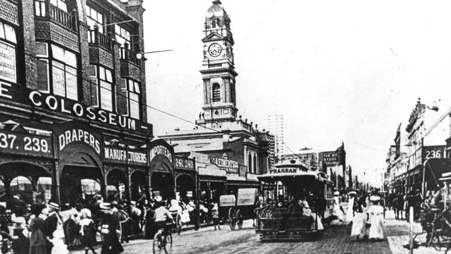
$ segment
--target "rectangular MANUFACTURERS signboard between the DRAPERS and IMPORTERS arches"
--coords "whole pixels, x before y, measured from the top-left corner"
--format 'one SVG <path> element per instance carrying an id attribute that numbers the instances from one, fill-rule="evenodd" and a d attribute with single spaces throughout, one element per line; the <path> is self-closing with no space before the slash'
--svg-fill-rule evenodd
<path id="1" fill-rule="evenodd" d="M 145 151 L 129 150 L 117 146 L 105 146 L 103 155 L 105 161 L 109 162 L 147 164 L 147 155 Z"/>

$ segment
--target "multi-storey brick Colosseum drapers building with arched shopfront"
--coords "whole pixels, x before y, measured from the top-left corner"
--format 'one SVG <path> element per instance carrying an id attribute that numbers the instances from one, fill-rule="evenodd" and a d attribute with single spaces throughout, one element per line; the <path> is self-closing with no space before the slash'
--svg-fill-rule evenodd
<path id="1" fill-rule="evenodd" d="M 0 190 L 61 204 L 194 188 L 152 141 L 141 0 L 0 0 Z M 175 179 L 178 180 L 175 180 Z M 20 182 L 20 183 L 19 183 Z"/>

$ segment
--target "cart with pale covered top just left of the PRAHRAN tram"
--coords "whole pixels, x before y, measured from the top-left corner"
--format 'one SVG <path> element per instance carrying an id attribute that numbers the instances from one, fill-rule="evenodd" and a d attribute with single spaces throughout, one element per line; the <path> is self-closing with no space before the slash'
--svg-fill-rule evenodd
<path id="1" fill-rule="evenodd" d="M 235 195 L 219 196 L 219 208 L 228 210 L 228 224 L 231 230 L 243 227 L 246 219 L 255 219 L 254 208 L 257 201 L 257 189 L 238 189 L 237 198 Z"/>

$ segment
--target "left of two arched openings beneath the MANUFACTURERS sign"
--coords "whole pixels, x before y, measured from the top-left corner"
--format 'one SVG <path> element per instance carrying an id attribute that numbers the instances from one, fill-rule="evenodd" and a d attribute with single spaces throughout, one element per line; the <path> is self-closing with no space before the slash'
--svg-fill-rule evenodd
<path id="1" fill-rule="evenodd" d="M 106 177 L 106 196 L 107 201 L 122 201 L 127 197 L 127 178 L 126 174 L 119 169 L 112 169 Z"/>

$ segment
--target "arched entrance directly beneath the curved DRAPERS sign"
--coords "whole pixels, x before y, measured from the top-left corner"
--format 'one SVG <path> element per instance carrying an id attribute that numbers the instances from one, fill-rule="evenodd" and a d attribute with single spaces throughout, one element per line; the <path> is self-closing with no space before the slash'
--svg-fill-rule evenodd
<path id="1" fill-rule="evenodd" d="M 63 208 L 69 208 L 81 200 L 92 200 L 96 194 L 103 194 L 103 173 L 97 162 L 87 153 L 71 155 L 71 164 L 62 167 L 60 174 L 60 199 Z"/>

